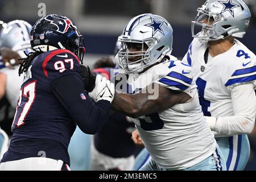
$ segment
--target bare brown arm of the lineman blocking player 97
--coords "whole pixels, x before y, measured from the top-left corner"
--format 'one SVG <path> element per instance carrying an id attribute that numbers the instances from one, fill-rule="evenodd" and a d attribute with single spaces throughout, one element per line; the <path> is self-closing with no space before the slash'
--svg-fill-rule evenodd
<path id="1" fill-rule="evenodd" d="M 148 92 L 154 88 L 154 93 Z M 112 108 L 129 117 L 138 118 L 142 115 L 163 111 L 175 104 L 188 101 L 191 97 L 184 92 L 177 92 L 152 83 L 137 94 L 115 93 Z"/>

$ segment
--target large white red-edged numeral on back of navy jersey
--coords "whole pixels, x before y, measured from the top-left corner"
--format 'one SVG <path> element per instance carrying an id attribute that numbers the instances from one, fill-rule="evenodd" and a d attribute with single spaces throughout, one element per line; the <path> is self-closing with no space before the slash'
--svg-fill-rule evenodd
<path id="1" fill-rule="evenodd" d="M 20 127 L 24 125 L 24 120 L 26 119 L 27 114 L 31 109 L 31 106 L 35 101 L 35 90 L 36 81 L 31 81 L 28 84 L 24 85 L 22 89 L 20 89 L 18 106 L 16 107 L 16 113 L 11 129 L 14 129 L 15 126 Z"/>

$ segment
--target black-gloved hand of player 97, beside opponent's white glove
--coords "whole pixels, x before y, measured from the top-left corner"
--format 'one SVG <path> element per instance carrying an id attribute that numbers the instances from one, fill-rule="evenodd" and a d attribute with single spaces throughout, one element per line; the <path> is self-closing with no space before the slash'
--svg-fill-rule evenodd
<path id="1" fill-rule="evenodd" d="M 84 65 L 80 65 L 81 71 L 80 76 L 82 77 L 82 81 L 85 85 L 85 90 L 88 92 L 92 92 L 92 90 L 95 87 L 95 79 L 96 76 L 93 75 L 92 72 L 90 72 L 89 67 L 85 67 Z"/>

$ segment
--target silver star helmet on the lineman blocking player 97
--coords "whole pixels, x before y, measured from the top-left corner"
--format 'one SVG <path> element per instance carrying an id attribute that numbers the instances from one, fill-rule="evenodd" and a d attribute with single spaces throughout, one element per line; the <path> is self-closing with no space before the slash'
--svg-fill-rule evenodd
<path id="1" fill-rule="evenodd" d="M 139 73 L 171 54 L 172 27 L 159 15 L 138 15 L 126 24 L 118 41 L 122 43 L 122 47 L 117 53 L 115 62 L 126 73 Z M 127 43 L 142 44 L 142 51 L 129 51 Z M 146 51 L 143 51 L 144 44 L 147 46 Z M 130 62 L 129 59 L 134 55 L 141 56 L 141 59 Z"/>

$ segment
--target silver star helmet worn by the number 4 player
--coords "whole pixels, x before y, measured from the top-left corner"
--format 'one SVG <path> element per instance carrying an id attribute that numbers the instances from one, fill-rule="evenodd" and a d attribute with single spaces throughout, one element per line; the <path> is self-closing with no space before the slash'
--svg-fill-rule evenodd
<path id="1" fill-rule="evenodd" d="M 192 21 L 192 36 L 199 38 L 201 43 L 228 36 L 242 38 L 250 17 L 250 10 L 242 0 L 207 0 L 197 9 Z"/>

